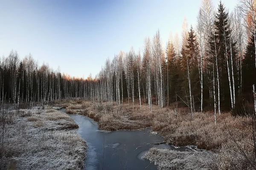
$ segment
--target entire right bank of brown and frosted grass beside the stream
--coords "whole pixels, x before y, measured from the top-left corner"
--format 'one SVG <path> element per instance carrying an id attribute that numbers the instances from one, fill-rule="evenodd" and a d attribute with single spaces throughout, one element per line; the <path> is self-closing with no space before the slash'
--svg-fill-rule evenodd
<path id="1" fill-rule="evenodd" d="M 175 146 L 195 145 L 206 152 L 184 152 L 152 148 L 145 158 L 159 169 L 216 169 L 241 170 L 255 168 L 253 129 L 251 119 L 234 117 L 230 113 L 217 116 L 214 113 L 196 112 L 194 120 L 184 108 L 178 108 L 177 117 L 171 107 L 158 108 L 153 112 L 148 106 L 97 105 L 82 99 L 60 103 L 66 113 L 79 113 L 98 122 L 102 130 L 142 130 L 151 127 L 164 137 L 166 143 Z M 193 168 L 192 168 L 193 167 Z"/>

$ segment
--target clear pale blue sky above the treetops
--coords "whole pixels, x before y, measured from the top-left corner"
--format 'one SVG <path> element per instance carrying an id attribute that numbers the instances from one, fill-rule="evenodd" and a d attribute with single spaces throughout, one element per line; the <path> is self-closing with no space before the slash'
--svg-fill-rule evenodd
<path id="1" fill-rule="evenodd" d="M 217 8 L 218 0 L 212 0 Z M 222 0 L 232 10 L 238 0 Z M 143 49 L 157 29 L 163 44 L 196 25 L 201 0 L 0 0 L 0 56 L 29 53 L 71 76 L 94 77 L 120 50 Z"/>

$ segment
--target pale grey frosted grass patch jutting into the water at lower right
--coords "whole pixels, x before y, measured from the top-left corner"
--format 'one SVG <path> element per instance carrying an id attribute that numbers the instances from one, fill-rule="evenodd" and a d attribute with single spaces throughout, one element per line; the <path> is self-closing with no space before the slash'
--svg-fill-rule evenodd
<path id="1" fill-rule="evenodd" d="M 158 165 L 159 170 L 217 170 L 217 154 L 209 151 L 184 151 L 151 148 L 144 159 Z"/>

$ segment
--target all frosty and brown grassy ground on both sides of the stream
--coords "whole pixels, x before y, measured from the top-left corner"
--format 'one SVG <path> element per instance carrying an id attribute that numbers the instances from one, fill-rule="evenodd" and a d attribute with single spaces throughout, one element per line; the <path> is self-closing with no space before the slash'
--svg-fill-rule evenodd
<path id="1" fill-rule="evenodd" d="M 147 105 L 140 108 L 138 101 L 135 101 L 134 109 L 128 101 L 124 101 L 121 107 L 109 106 L 108 103 L 99 107 L 79 98 L 51 104 L 27 109 L 3 106 L 5 124 L 1 130 L 1 169 L 8 169 L 8 161 L 12 158 L 18 160 L 15 164 L 19 170 L 76 170 L 86 166 L 86 142 L 69 130 L 78 128 L 78 125 L 68 114 L 88 116 L 97 121 L 102 130 L 150 127 L 163 136 L 167 144 L 198 148 L 190 152 L 151 148 L 143 158 L 157 164 L 160 170 L 255 168 L 254 121 L 248 117 L 234 117 L 227 112 L 217 116 L 215 125 L 213 112 L 196 112 L 191 121 L 186 108 L 177 108 L 175 114 L 175 105 L 168 108 L 153 105 L 151 112 Z M 52 108 L 66 108 L 66 113 Z"/>

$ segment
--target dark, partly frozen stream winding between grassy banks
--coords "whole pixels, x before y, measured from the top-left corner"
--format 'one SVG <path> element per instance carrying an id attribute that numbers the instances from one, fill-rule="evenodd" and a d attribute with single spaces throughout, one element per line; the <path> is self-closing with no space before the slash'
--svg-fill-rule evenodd
<path id="1" fill-rule="evenodd" d="M 97 122 L 87 116 L 70 115 L 79 128 L 76 131 L 86 140 L 88 145 L 84 170 L 157 170 L 154 163 L 142 159 L 143 153 L 151 147 L 175 148 L 163 142 L 159 135 L 152 135 L 150 129 L 143 131 L 120 130 L 107 132 L 99 130 Z"/>

